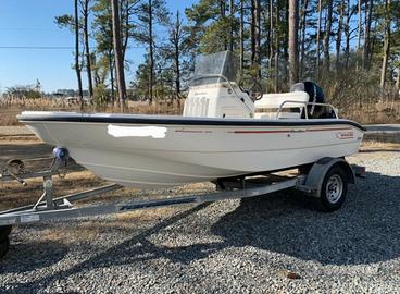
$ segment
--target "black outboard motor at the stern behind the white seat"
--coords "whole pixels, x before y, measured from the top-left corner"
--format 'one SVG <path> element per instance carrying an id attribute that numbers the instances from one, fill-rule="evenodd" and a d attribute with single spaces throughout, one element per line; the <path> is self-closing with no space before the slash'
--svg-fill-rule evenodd
<path id="1" fill-rule="evenodd" d="M 311 103 L 325 103 L 325 95 L 322 88 L 314 82 L 301 82 L 291 86 L 290 91 L 305 91 L 309 95 L 309 102 Z M 334 118 L 335 113 L 325 106 L 310 105 L 307 107 L 309 119 L 326 119 Z M 305 118 L 305 114 L 302 114 Z"/>

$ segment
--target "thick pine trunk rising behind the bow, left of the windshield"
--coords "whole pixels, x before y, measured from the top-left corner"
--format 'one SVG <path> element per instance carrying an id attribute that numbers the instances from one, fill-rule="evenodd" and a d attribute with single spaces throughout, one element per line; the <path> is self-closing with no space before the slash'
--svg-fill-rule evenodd
<path id="1" fill-rule="evenodd" d="M 114 59 L 116 71 L 116 85 L 120 99 L 121 111 L 125 110 L 126 100 L 126 85 L 124 73 L 124 61 L 122 59 L 122 44 L 121 44 L 121 22 L 120 22 L 120 8 L 118 0 L 111 0 L 112 2 L 112 20 L 113 20 L 113 46 L 114 46 Z"/>

